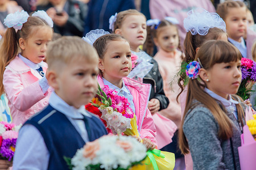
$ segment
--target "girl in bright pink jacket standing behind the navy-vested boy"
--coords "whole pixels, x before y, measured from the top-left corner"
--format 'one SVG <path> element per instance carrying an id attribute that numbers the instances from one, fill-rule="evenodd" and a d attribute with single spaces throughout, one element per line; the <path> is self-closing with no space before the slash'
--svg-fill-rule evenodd
<path id="1" fill-rule="evenodd" d="M 93 44 L 100 57 L 98 83 L 125 96 L 137 117 L 137 129 L 148 149 L 156 147 L 155 125 L 147 108 L 150 84 L 139 83 L 126 78 L 131 71 L 131 50 L 129 42 L 122 36 L 107 34 L 99 37 Z"/>

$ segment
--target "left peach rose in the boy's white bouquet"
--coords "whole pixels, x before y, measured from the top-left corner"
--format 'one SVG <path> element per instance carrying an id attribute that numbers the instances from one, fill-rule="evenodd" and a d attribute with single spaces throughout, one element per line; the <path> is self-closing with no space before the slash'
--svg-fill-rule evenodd
<path id="1" fill-rule="evenodd" d="M 86 145 L 84 146 L 84 157 L 85 158 L 90 158 L 93 160 L 96 156 L 96 152 L 100 150 L 100 143 L 98 141 L 93 141 L 93 142 L 87 142 Z"/>

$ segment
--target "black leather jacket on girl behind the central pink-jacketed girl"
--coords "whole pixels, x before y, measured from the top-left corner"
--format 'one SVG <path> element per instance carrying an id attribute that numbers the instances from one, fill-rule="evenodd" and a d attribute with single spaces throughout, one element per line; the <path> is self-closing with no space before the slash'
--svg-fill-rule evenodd
<path id="1" fill-rule="evenodd" d="M 152 59 L 150 63 L 152 63 L 154 66 L 152 67 L 150 72 L 146 76 L 144 76 L 143 83 L 151 84 L 150 99 L 155 98 L 160 101 L 159 111 L 161 111 L 162 109 L 166 109 L 168 107 L 169 100 L 163 91 L 163 79 L 158 69 L 158 63 L 153 57 L 151 58 Z"/>

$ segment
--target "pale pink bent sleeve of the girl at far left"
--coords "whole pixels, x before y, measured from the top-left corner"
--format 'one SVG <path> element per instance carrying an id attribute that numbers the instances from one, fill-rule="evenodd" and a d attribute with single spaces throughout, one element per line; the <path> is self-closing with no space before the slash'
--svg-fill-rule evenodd
<path id="1" fill-rule="evenodd" d="M 3 86 L 11 104 L 22 112 L 31 108 L 32 105 L 38 103 L 39 100 L 48 94 L 48 92 L 43 94 L 39 81 L 24 87 L 25 85 L 22 83 L 20 74 L 14 73 L 7 68 L 5 73 L 3 73 Z"/>

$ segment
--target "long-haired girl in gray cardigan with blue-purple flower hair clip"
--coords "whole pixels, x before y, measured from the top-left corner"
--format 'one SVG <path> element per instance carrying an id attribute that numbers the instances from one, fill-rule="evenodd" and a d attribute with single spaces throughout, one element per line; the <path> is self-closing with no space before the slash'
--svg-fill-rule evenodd
<path id="1" fill-rule="evenodd" d="M 193 169 L 240 169 L 247 106 L 234 94 L 241 83 L 241 58 L 229 42 L 210 40 L 187 66 L 191 79 L 179 145 L 183 154 L 191 152 Z"/>

